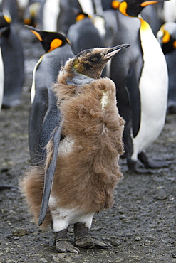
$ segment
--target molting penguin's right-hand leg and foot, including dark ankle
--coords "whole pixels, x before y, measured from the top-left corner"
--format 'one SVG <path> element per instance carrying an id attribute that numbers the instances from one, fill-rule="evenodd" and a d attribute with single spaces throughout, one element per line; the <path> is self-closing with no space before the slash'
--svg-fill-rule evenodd
<path id="1" fill-rule="evenodd" d="M 84 223 L 78 222 L 74 224 L 75 245 L 82 248 L 98 247 L 100 249 L 108 249 L 108 244 L 90 237 L 88 227 Z"/>

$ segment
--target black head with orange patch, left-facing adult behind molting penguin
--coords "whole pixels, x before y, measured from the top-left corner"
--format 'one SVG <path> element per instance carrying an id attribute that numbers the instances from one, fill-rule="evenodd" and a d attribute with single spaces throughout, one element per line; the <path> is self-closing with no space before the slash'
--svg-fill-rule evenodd
<path id="1" fill-rule="evenodd" d="M 33 28 L 32 26 L 25 25 L 24 27 L 29 28 L 29 30 L 41 41 L 41 45 L 46 53 L 52 51 L 55 48 L 59 48 L 63 45 L 70 44 L 68 38 L 63 36 L 61 33 L 57 32 L 48 32 L 48 31 L 40 31 L 37 28 Z"/>

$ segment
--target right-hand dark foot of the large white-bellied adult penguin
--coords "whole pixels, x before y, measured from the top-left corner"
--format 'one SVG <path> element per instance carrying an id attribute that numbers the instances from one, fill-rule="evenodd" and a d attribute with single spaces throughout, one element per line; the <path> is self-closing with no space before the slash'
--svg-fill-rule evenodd
<path id="1" fill-rule="evenodd" d="M 170 162 L 169 161 L 160 161 L 160 160 L 151 160 L 147 157 L 147 154 L 145 151 L 142 151 L 140 154 L 138 154 L 138 159 L 145 165 L 145 168 L 164 168 L 167 167 Z"/>

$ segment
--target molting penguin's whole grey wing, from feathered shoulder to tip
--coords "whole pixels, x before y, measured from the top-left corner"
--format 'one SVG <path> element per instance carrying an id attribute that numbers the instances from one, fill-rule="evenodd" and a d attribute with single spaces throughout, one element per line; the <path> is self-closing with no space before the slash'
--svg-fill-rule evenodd
<path id="1" fill-rule="evenodd" d="M 41 132 L 41 145 L 45 145 L 49 140 L 53 143 L 51 162 L 48 164 L 45 172 L 44 180 L 44 190 L 43 198 L 41 202 L 41 211 L 38 218 L 38 225 L 42 225 L 45 217 L 46 211 L 48 209 L 48 201 L 51 193 L 51 186 L 53 183 L 53 176 L 56 169 L 56 161 L 58 156 L 58 146 L 61 141 L 61 130 L 62 130 L 62 119 L 61 112 L 59 109 L 56 109 L 56 105 L 53 106 L 51 111 L 48 113 L 46 121 L 43 124 L 43 130 Z M 41 147 L 40 156 L 46 156 L 46 149 L 44 150 Z"/>

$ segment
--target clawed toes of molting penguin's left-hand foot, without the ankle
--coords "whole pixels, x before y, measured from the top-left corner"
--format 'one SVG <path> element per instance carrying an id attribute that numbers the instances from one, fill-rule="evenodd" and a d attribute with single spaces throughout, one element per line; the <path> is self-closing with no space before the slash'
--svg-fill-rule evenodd
<path id="1" fill-rule="evenodd" d="M 56 250 L 59 253 L 71 252 L 79 254 L 79 249 L 77 247 L 74 247 L 68 240 L 57 240 Z"/>

